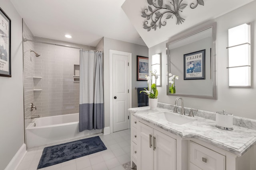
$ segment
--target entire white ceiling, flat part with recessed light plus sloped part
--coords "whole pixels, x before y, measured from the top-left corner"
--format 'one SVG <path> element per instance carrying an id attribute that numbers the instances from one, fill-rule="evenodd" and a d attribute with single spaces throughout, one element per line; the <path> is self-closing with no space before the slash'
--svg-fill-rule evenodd
<path id="1" fill-rule="evenodd" d="M 147 0 L 10 1 L 37 37 L 94 47 L 102 37 L 108 37 L 152 47 L 194 25 L 217 18 L 253 0 L 204 0 L 204 6 L 198 5 L 193 10 L 187 6 L 181 12 L 186 19 L 182 25 L 176 25 L 176 18 L 168 19 L 166 26 L 149 32 L 143 29 L 144 18 L 141 17 L 142 9 L 148 6 Z M 65 34 L 72 35 L 72 39 L 64 37 Z"/>

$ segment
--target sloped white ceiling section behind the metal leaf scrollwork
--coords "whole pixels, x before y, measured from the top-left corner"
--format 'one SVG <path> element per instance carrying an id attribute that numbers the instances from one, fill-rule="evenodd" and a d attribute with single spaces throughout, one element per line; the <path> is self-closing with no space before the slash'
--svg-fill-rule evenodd
<path id="1" fill-rule="evenodd" d="M 181 2 L 181 0 L 175 1 Z M 156 31 L 154 31 L 154 29 L 147 31 L 147 29 L 143 28 L 143 21 L 145 21 L 146 19 L 142 18 L 141 15 L 142 10 L 148 8 L 149 6 L 147 0 L 126 0 L 122 5 L 122 8 L 134 25 L 135 29 L 138 31 L 138 33 L 146 43 L 146 45 L 148 47 L 152 47 L 170 39 L 170 37 L 177 35 L 182 31 L 188 30 L 189 28 L 199 25 L 200 23 L 214 20 L 215 18 L 222 16 L 223 14 L 235 10 L 236 8 L 239 8 L 240 6 L 248 4 L 249 2 L 252 2 L 254 0 L 203 0 L 204 6 L 198 5 L 195 9 L 191 9 L 189 7 L 190 4 L 196 4 L 197 1 L 202 0 L 182 1 L 182 3 L 188 4 L 188 6 L 186 6 L 186 8 L 182 10 L 182 12 L 180 12 L 180 16 L 185 19 L 182 24 L 176 25 L 176 18 L 173 17 L 167 19 L 166 25 L 162 26 L 160 29 L 159 27 L 156 27 Z M 153 2 L 158 3 L 158 0 L 153 0 Z M 170 2 L 172 2 L 172 0 L 163 0 L 164 8 L 166 4 L 172 6 Z M 154 9 L 156 8 L 153 8 L 153 11 Z M 151 21 L 149 21 L 149 23 L 150 22 Z"/>

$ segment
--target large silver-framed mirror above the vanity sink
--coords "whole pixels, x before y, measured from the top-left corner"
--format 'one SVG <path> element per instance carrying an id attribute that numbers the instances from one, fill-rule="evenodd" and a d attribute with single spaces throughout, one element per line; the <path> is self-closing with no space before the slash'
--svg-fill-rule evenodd
<path id="1" fill-rule="evenodd" d="M 167 95 L 217 99 L 216 22 L 166 43 L 166 55 Z"/>

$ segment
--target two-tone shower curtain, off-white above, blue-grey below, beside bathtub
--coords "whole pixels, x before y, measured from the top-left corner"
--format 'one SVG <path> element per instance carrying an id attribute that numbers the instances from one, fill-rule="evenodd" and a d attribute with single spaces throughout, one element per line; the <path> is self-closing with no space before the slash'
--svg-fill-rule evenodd
<path id="1" fill-rule="evenodd" d="M 80 132 L 104 128 L 102 60 L 102 52 L 80 50 Z"/>

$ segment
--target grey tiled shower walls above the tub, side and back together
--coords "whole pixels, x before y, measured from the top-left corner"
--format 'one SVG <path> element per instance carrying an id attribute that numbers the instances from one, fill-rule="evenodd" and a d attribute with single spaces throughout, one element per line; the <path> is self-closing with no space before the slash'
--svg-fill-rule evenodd
<path id="1" fill-rule="evenodd" d="M 34 37 L 24 23 L 27 39 L 95 50 L 95 47 Z M 24 47 L 25 129 L 31 115 L 40 117 L 79 112 L 79 82 L 74 82 L 74 64 L 79 65 L 79 49 L 26 41 Z M 39 53 L 36 57 L 30 49 Z M 30 111 L 29 104 L 37 109 Z"/>

